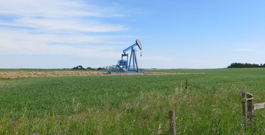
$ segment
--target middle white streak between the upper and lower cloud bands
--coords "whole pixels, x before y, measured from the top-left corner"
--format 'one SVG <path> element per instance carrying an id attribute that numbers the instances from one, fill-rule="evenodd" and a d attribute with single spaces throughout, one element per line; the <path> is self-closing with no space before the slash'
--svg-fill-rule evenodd
<path id="1" fill-rule="evenodd" d="M 72 32 L 116 32 L 127 30 L 123 25 L 103 24 L 95 21 L 76 19 L 47 19 L 24 17 L 14 20 L 15 23 L 0 22 L 0 25 L 27 27 L 38 32 L 72 33 Z"/>

